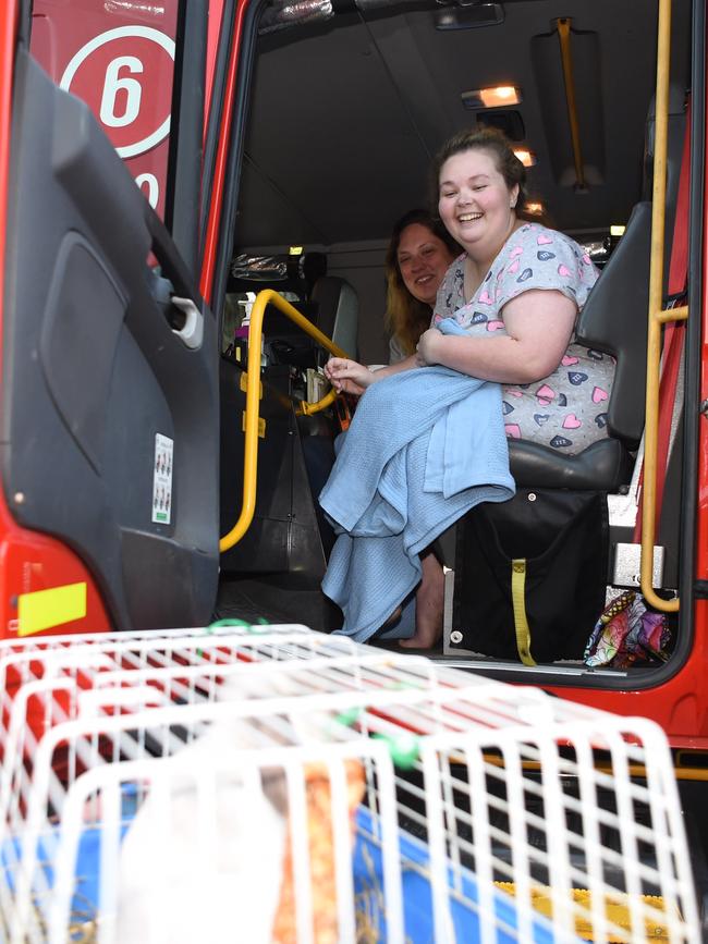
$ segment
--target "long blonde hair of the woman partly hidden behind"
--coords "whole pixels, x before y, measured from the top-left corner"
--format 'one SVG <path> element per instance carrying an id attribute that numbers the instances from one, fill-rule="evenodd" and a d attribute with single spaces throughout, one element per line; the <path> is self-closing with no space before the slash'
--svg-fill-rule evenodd
<path id="1" fill-rule="evenodd" d="M 418 223 L 437 236 L 454 257 L 462 250 L 450 233 L 427 210 L 411 210 L 393 225 L 391 242 L 386 253 L 386 329 L 394 336 L 404 354 L 415 352 L 415 345 L 430 326 L 430 306 L 415 298 L 406 289 L 399 267 L 399 245 L 407 226 Z"/>

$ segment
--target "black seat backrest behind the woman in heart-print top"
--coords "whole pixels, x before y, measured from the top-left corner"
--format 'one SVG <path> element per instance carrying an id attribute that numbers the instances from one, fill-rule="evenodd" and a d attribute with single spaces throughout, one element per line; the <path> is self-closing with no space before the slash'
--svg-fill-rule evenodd
<path id="1" fill-rule="evenodd" d="M 617 358 L 608 429 L 628 449 L 636 449 L 644 431 L 650 247 L 651 204 L 640 203 L 577 324 L 581 344 Z"/>

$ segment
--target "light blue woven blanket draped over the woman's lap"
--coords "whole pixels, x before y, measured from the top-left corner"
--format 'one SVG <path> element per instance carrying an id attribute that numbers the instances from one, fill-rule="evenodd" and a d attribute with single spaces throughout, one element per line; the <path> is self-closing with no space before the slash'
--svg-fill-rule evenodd
<path id="1" fill-rule="evenodd" d="M 447 367 L 373 383 L 319 496 L 338 534 L 322 590 L 339 632 L 366 641 L 419 581 L 420 551 L 513 493 L 499 384 Z"/>

